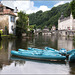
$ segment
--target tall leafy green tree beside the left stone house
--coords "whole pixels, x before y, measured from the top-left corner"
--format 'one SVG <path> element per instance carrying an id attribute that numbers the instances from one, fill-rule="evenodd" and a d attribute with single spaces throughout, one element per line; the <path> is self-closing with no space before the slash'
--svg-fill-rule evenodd
<path id="1" fill-rule="evenodd" d="M 27 28 L 28 28 L 28 16 L 23 11 L 20 11 L 18 13 L 18 17 L 19 18 L 16 21 L 16 25 L 17 25 L 16 34 L 21 36 L 22 33 L 27 32 Z"/>

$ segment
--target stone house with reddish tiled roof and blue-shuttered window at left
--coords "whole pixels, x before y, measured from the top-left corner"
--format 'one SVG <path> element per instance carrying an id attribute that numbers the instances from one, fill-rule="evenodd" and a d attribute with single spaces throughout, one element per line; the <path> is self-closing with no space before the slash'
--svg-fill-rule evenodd
<path id="1" fill-rule="evenodd" d="M 16 13 L 14 9 L 0 3 L 0 30 L 8 30 L 8 34 L 14 34 L 16 29 Z"/>

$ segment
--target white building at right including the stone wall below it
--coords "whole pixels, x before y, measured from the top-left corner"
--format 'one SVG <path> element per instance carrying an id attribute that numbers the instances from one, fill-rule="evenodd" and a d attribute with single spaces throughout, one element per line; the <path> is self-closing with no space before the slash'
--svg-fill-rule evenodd
<path id="1" fill-rule="evenodd" d="M 74 36 L 75 35 L 75 19 L 72 14 L 69 17 L 61 17 L 58 20 L 58 33 L 62 36 Z"/>

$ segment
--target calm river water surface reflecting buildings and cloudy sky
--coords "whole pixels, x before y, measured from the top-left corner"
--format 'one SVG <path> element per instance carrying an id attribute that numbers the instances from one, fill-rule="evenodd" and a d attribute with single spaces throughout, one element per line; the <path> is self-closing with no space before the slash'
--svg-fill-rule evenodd
<path id="1" fill-rule="evenodd" d="M 35 36 L 27 39 L 13 39 L 0 41 L 0 74 L 75 74 L 74 64 L 67 62 L 50 62 L 28 60 L 20 58 L 10 58 L 11 50 L 27 47 L 52 47 L 60 50 L 65 48 L 72 50 L 75 48 L 75 42 L 72 37 L 57 36 Z"/>

